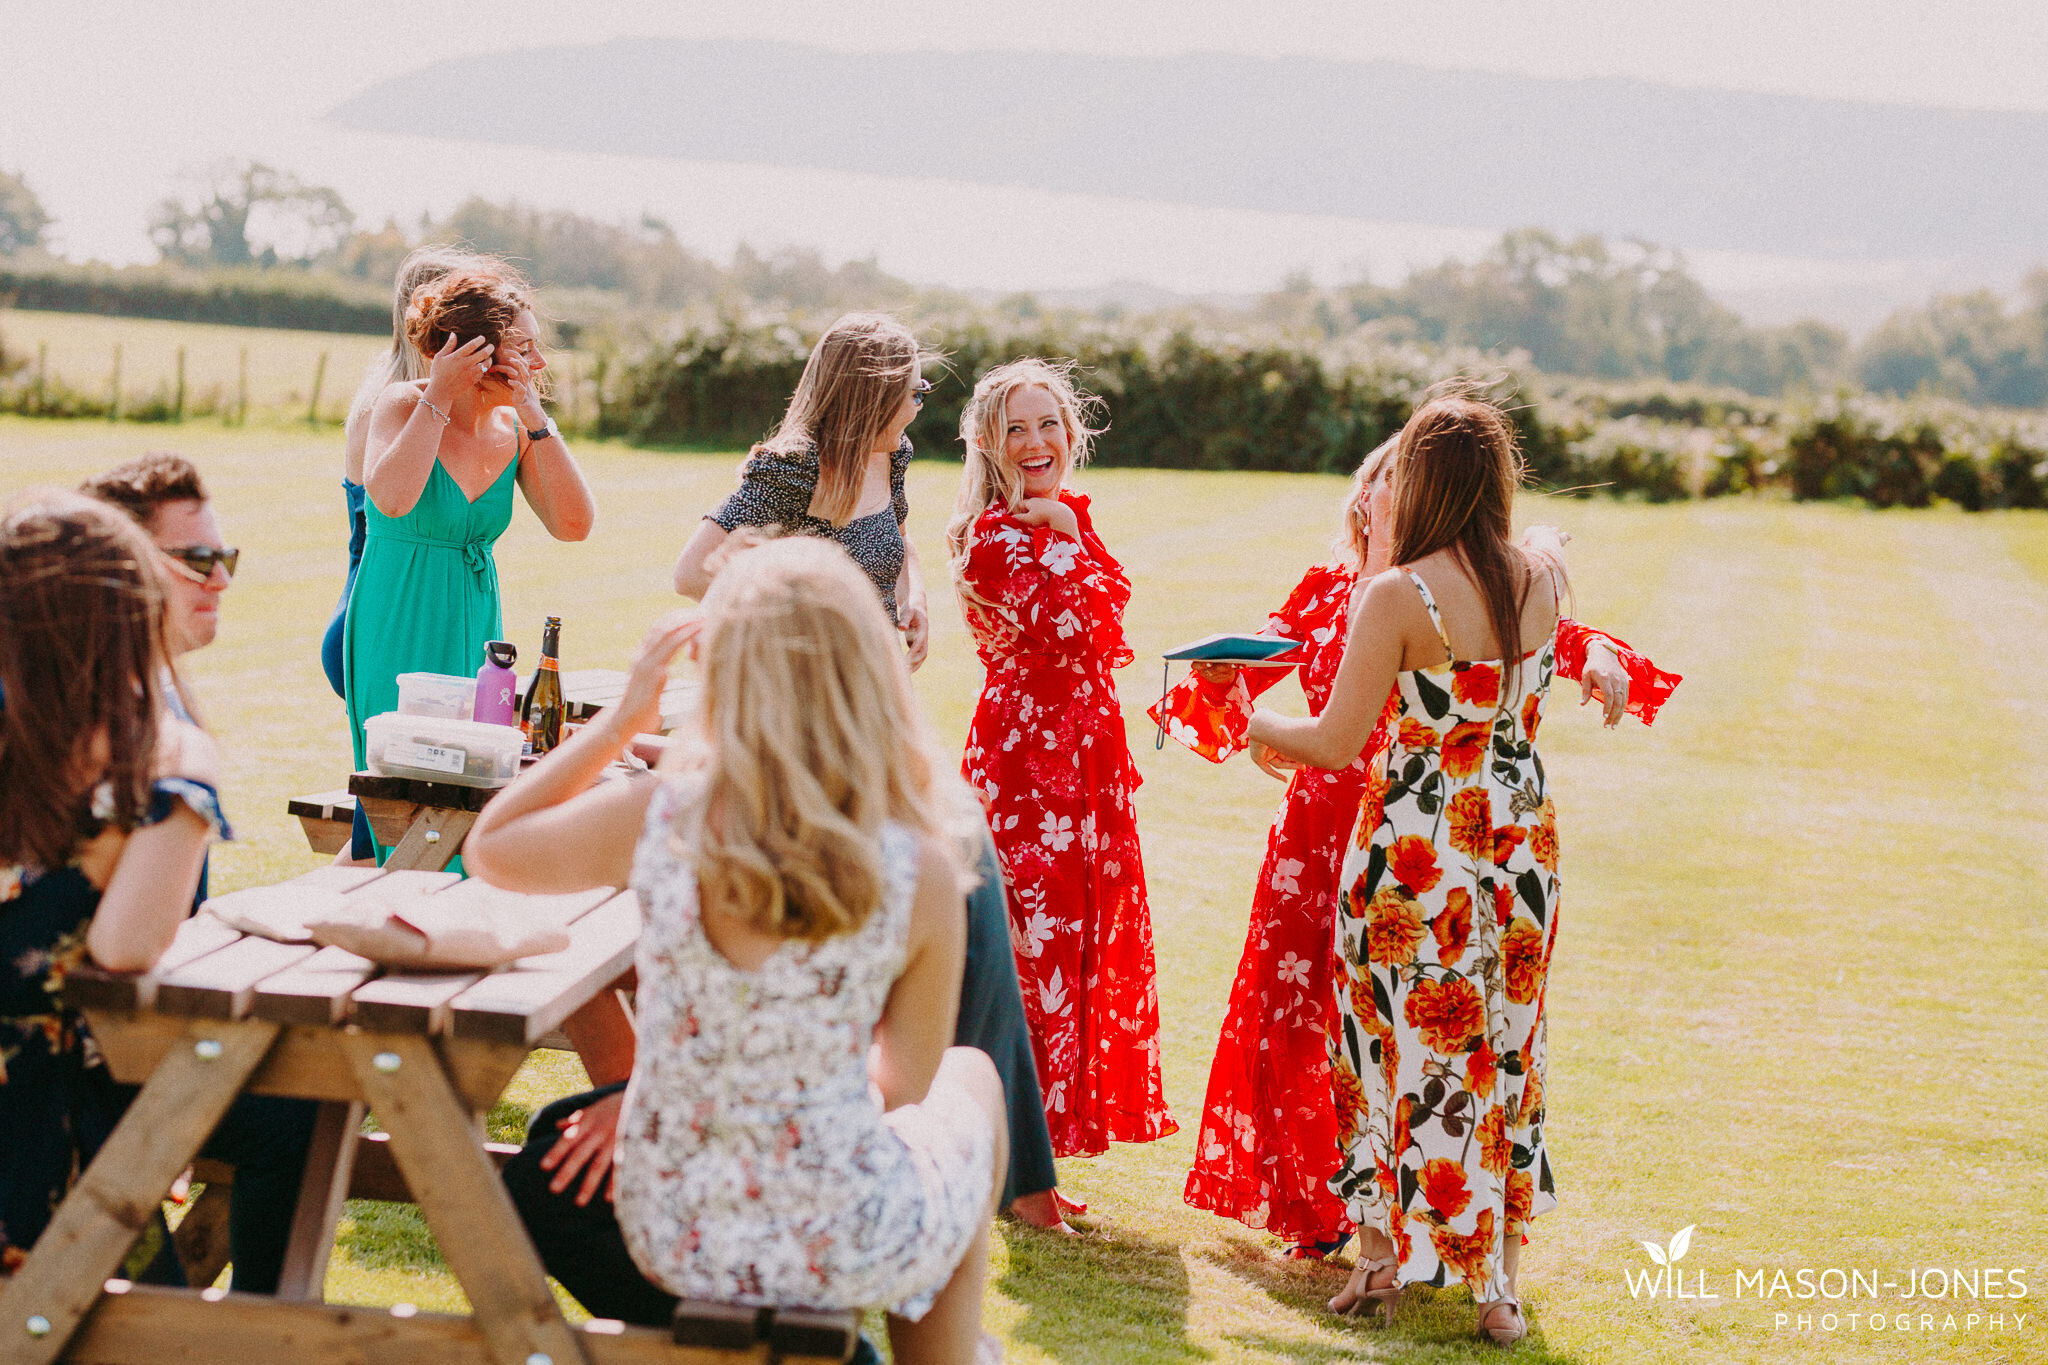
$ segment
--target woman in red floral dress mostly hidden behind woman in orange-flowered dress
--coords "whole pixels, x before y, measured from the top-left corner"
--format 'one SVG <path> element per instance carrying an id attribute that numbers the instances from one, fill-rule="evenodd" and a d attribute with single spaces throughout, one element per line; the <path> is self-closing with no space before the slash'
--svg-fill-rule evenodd
<path id="1" fill-rule="evenodd" d="M 1384 465 L 1393 448 L 1389 440 L 1358 467 L 1331 557 L 1309 569 L 1266 626 L 1266 634 L 1303 641 L 1288 665 L 1298 669 L 1311 716 L 1321 714 L 1343 659 L 1360 565 L 1366 579 L 1386 569 L 1386 538 L 1374 542 L 1370 530 L 1374 514 L 1382 526 L 1389 522 L 1393 493 Z M 1573 620 L 1559 626 L 1559 661 L 1561 675 L 1579 679 L 1589 696 L 1608 702 L 1610 718 L 1626 708 L 1649 722 L 1675 686 L 1624 643 Z M 1239 675 L 1245 681 L 1241 698 Z M 1280 667 L 1239 673 L 1200 665 L 1200 675 L 1182 679 L 1153 708 L 1153 718 L 1221 763 L 1243 749 L 1237 702 L 1260 696 L 1284 675 Z M 1298 1259 L 1339 1250 L 1352 1230 L 1343 1203 L 1327 1185 L 1339 1158 L 1329 1064 L 1333 917 L 1346 841 L 1382 745 L 1384 733 L 1374 733 L 1364 753 L 1339 772 L 1286 763 L 1294 772 L 1266 841 L 1184 1189 L 1190 1205 L 1264 1228 L 1288 1240 L 1288 1254 Z M 1262 767 L 1286 778 L 1268 763 Z"/>

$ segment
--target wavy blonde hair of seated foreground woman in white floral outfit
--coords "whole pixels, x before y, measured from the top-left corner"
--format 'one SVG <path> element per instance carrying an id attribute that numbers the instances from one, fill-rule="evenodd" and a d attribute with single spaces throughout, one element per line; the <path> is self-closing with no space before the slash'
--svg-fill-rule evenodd
<path id="1" fill-rule="evenodd" d="M 707 907 L 762 933 L 858 931 L 883 894 L 881 829 L 963 839 L 979 810 L 940 757 L 881 600 L 846 551 L 770 540 L 705 593 L 702 739 L 674 837 Z M 971 866 L 971 864 L 967 864 Z"/>

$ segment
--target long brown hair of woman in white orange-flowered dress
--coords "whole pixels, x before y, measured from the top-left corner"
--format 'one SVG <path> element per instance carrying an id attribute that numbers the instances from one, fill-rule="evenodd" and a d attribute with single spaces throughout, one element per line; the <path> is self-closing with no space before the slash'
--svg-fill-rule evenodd
<path id="1" fill-rule="evenodd" d="M 1501 651 L 1501 696 L 1513 696 L 1522 610 L 1534 583 L 1528 557 L 1509 538 L 1522 485 L 1513 424 L 1485 399 L 1432 399 L 1401 428 L 1393 481 L 1391 563 L 1413 565 L 1448 548 L 1464 565 Z"/>

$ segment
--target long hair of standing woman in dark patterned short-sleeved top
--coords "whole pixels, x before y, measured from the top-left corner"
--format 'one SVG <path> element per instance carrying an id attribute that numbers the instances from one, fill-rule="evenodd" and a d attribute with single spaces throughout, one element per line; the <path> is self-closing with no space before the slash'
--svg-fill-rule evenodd
<path id="1" fill-rule="evenodd" d="M 924 372 L 909 327 L 887 313 L 846 313 L 817 338 L 774 436 L 756 450 L 817 452 L 817 516 L 846 526 L 877 440 Z"/>

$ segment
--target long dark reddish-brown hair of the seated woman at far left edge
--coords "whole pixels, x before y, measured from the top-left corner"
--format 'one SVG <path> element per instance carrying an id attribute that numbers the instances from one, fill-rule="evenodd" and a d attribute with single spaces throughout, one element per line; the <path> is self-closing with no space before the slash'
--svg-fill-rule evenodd
<path id="1" fill-rule="evenodd" d="M 100 782 L 109 819 L 141 823 L 162 618 L 154 548 L 127 514 L 49 493 L 0 518 L 0 864 L 61 868 Z"/>

